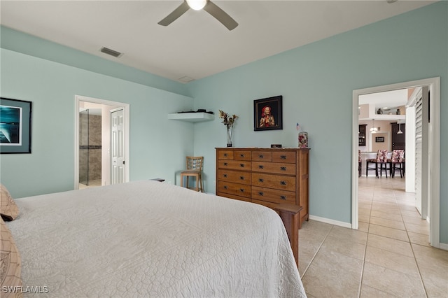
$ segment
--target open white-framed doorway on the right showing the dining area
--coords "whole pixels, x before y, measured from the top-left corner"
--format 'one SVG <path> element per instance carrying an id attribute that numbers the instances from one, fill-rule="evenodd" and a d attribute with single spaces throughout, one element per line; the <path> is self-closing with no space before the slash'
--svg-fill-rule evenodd
<path id="1" fill-rule="evenodd" d="M 353 229 L 405 233 L 408 241 L 440 247 L 439 82 L 353 91 Z M 402 99 L 384 101 L 388 96 Z M 391 172 L 393 150 L 404 150 L 404 171 Z"/>

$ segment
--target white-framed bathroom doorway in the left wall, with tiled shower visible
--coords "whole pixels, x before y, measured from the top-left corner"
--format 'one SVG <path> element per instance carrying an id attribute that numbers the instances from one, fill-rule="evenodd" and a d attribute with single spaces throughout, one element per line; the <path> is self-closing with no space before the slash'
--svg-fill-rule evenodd
<path id="1" fill-rule="evenodd" d="M 91 97 L 75 98 L 74 189 L 117 183 L 113 176 L 116 148 L 113 142 L 113 114 L 120 117 L 120 181 L 129 181 L 129 104 Z"/>

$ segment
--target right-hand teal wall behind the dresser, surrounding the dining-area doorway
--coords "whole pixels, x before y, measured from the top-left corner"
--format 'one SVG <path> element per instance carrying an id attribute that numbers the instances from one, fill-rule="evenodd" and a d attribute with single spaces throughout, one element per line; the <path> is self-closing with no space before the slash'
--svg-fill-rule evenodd
<path id="1" fill-rule="evenodd" d="M 297 147 L 296 122 L 309 133 L 310 214 L 351 222 L 352 92 L 441 78 L 440 241 L 448 243 L 448 3 L 326 38 L 190 83 L 195 108 L 239 115 L 234 146 Z M 253 100 L 283 95 L 283 130 L 253 131 Z M 195 126 L 214 191 L 215 147 L 226 145 L 219 118 Z"/>

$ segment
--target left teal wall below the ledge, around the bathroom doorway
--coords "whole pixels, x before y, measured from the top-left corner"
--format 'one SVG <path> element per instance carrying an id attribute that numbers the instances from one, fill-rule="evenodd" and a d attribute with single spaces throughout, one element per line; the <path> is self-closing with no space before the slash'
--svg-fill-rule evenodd
<path id="1" fill-rule="evenodd" d="M 73 190 L 75 96 L 130 104 L 130 180 L 165 178 L 193 154 L 193 124 L 168 120 L 193 99 L 1 49 L 1 97 L 32 101 L 31 154 L 1 155 L 13 197 Z"/>

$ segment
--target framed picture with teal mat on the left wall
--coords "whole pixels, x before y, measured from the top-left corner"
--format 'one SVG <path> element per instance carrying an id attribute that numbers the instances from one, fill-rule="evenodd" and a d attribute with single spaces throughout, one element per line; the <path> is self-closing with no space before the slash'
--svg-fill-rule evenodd
<path id="1" fill-rule="evenodd" d="M 31 153 L 31 101 L 0 97 L 0 153 Z"/>

